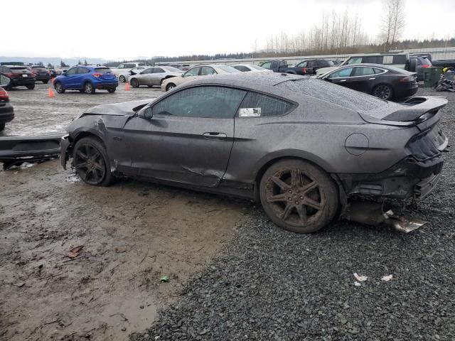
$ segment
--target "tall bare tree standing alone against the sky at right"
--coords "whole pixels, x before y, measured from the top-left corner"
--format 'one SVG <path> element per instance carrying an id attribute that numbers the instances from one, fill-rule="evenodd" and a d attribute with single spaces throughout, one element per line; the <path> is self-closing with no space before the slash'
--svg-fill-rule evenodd
<path id="1" fill-rule="evenodd" d="M 380 39 L 388 49 L 401 36 L 406 24 L 405 0 L 383 0 Z"/>

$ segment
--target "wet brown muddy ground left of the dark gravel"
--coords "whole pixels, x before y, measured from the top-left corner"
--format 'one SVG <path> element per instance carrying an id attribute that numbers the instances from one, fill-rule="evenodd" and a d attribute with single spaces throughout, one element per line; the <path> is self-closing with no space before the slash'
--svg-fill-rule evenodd
<path id="1" fill-rule="evenodd" d="M 2 135 L 55 134 L 87 107 L 161 92 L 47 94 L 11 90 L 16 119 Z M 0 340 L 9 341 L 116 341 L 149 328 L 252 207 L 129 180 L 94 188 L 58 160 L 0 171 L 0 195 Z"/>

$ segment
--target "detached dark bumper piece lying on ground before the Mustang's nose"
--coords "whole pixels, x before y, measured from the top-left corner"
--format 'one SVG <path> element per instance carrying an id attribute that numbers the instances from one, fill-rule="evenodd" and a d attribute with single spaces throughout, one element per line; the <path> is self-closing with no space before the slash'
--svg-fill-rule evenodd
<path id="1" fill-rule="evenodd" d="M 61 135 L 0 137 L 0 162 L 3 168 L 24 162 L 41 162 L 58 157 Z"/>

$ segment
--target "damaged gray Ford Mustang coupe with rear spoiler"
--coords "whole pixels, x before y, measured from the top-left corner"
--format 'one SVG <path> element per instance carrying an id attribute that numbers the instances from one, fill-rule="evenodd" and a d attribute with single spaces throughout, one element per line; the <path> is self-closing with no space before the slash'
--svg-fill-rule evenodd
<path id="1" fill-rule="evenodd" d="M 132 176 L 260 200 L 315 232 L 353 195 L 419 199 L 448 141 L 441 97 L 403 104 L 279 73 L 200 77 L 154 100 L 94 107 L 68 127 L 61 161 L 90 185 Z"/>

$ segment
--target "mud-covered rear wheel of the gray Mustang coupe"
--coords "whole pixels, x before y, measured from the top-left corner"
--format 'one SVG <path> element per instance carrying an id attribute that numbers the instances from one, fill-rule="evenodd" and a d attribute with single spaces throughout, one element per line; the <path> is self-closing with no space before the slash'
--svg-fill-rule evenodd
<path id="1" fill-rule="evenodd" d="M 259 197 L 275 224 L 297 233 L 318 231 L 338 210 L 333 180 L 319 167 L 298 159 L 269 166 L 259 184 Z"/>

